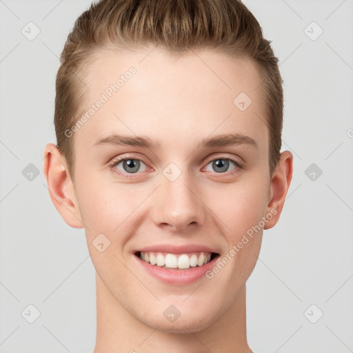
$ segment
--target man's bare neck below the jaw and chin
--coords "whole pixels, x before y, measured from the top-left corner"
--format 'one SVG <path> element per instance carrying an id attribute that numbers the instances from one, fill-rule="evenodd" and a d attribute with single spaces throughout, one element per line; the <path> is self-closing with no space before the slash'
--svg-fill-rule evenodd
<path id="1" fill-rule="evenodd" d="M 246 338 L 246 290 L 205 330 L 175 334 L 138 321 L 105 287 L 96 273 L 97 337 L 94 353 L 251 353 Z"/>

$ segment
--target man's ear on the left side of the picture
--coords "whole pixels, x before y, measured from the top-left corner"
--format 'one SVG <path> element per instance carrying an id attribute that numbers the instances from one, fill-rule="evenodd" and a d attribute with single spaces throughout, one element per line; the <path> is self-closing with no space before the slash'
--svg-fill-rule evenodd
<path id="1" fill-rule="evenodd" d="M 48 183 L 52 203 L 63 220 L 73 228 L 83 228 L 67 163 L 53 143 L 48 143 L 44 149 L 43 173 Z"/>

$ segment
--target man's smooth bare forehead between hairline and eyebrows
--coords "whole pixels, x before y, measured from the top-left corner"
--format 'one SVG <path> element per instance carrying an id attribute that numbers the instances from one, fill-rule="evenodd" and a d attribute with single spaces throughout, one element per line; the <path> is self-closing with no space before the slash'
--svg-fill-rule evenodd
<path id="1" fill-rule="evenodd" d="M 215 50 L 177 57 L 153 47 L 104 51 L 90 65 L 86 82 L 83 114 L 92 114 L 75 137 L 80 145 L 117 132 L 168 138 L 174 147 L 237 132 L 266 145 L 261 77 L 250 59 Z"/>

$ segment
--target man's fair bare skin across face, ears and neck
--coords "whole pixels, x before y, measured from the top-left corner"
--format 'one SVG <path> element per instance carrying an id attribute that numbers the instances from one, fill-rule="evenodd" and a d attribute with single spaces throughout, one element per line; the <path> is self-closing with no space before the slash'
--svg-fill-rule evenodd
<path id="1" fill-rule="evenodd" d="M 96 269 L 94 352 L 251 352 L 245 282 L 263 229 L 279 220 L 293 163 L 292 154 L 282 152 L 270 178 L 268 128 L 259 119 L 265 112 L 255 90 L 259 72 L 248 59 L 214 50 L 179 58 L 157 48 L 101 52 L 86 75 L 87 106 L 131 66 L 137 73 L 71 137 L 74 182 L 56 146 L 48 143 L 44 151 L 52 202 L 68 225 L 85 228 Z M 243 112 L 233 103 L 240 92 L 252 99 Z M 92 147 L 112 133 L 145 135 L 159 147 Z M 206 137 L 229 133 L 251 137 L 257 148 L 199 147 Z M 138 172 L 123 163 L 109 166 L 125 155 L 142 161 Z M 219 172 L 212 164 L 217 159 L 243 161 L 244 168 L 230 162 Z M 163 174 L 170 163 L 181 170 L 175 181 Z M 272 219 L 212 279 L 168 285 L 137 269 L 132 252 L 147 245 L 196 243 L 225 256 L 271 210 Z M 103 252 L 92 245 L 101 233 L 111 242 Z M 172 323 L 163 315 L 170 305 L 181 312 Z"/>

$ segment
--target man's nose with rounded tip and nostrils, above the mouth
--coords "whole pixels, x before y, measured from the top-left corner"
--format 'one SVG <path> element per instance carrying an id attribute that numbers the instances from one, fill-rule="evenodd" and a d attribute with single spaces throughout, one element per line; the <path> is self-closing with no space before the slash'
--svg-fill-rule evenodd
<path id="1" fill-rule="evenodd" d="M 164 179 L 154 194 L 152 218 L 158 227 L 183 232 L 204 223 L 202 196 L 186 172 L 175 181 Z"/>

